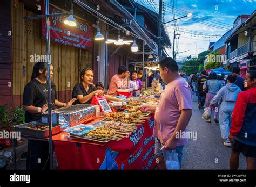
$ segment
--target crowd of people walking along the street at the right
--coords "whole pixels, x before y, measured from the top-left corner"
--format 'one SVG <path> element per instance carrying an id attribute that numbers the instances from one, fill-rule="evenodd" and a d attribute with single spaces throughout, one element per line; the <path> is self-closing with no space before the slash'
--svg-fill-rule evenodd
<path id="1" fill-rule="evenodd" d="M 247 169 L 256 169 L 256 70 L 248 71 L 245 80 L 239 67 L 228 76 L 203 70 L 183 77 L 198 96 L 198 108 L 204 109 L 205 102 L 210 107 L 206 122 L 211 123 L 213 111 L 224 145 L 232 147 L 230 169 L 238 169 L 240 153 L 246 156 Z"/>

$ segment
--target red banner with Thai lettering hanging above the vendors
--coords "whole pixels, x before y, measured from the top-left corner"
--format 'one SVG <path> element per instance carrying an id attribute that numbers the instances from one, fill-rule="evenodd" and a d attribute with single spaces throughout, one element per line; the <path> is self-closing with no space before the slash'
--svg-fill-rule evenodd
<path id="1" fill-rule="evenodd" d="M 49 13 L 60 13 L 62 11 L 49 6 Z M 42 14 L 45 14 L 42 5 Z M 64 24 L 65 17 L 52 17 L 50 20 L 50 40 L 60 44 L 92 50 L 92 24 L 77 19 L 77 26 L 72 27 Z M 46 23 L 42 19 L 42 38 L 46 39 Z"/>

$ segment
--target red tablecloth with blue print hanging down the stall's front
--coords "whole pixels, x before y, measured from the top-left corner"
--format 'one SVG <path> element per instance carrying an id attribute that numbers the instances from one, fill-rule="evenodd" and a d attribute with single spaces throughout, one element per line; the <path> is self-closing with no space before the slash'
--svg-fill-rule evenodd
<path id="1" fill-rule="evenodd" d="M 83 142 L 58 141 L 55 152 L 59 169 L 153 169 L 154 159 L 153 116 L 138 125 L 129 138 L 110 141 L 104 145 Z M 63 136 L 63 134 L 62 134 Z"/>

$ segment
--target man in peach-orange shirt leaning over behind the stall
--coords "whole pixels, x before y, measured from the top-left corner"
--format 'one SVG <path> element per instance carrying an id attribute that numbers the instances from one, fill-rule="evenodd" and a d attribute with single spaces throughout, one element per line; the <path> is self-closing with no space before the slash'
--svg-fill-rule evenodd
<path id="1" fill-rule="evenodd" d="M 117 74 L 111 78 L 109 83 L 109 90 L 107 90 L 107 95 L 116 96 L 118 88 L 130 88 L 129 77 L 130 72 L 127 71 L 127 68 L 125 66 L 120 66 L 118 68 Z"/>

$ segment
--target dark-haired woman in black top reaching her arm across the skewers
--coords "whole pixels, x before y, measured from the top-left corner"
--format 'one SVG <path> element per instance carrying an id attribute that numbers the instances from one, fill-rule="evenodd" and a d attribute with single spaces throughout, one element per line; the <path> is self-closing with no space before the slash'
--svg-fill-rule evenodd
<path id="1" fill-rule="evenodd" d="M 103 90 L 98 90 L 91 83 L 93 81 L 93 71 L 91 68 L 85 68 L 81 71 L 80 83 L 73 88 L 72 98 L 77 98 L 73 104 L 94 104 L 93 97 L 97 93 L 99 96 L 104 96 L 106 100 L 119 101 L 123 100 L 109 95 L 105 95 Z"/>

